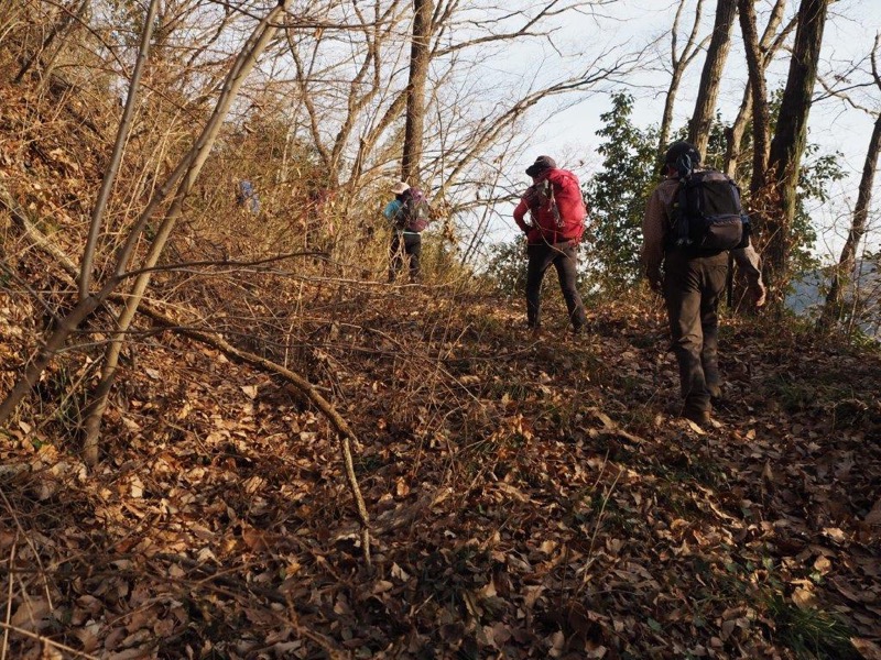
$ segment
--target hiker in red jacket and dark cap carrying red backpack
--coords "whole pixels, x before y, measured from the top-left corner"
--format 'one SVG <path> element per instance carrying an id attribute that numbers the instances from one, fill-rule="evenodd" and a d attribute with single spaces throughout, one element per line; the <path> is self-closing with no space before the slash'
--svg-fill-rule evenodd
<path id="1" fill-rule="evenodd" d="M 541 317 L 541 290 L 545 271 L 553 264 L 559 288 L 569 310 L 573 332 L 585 324 L 585 306 L 576 287 L 578 242 L 585 229 L 585 208 L 578 177 L 559 169 L 550 156 L 539 156 L 526 168 L 532 186 L 514 209 L 514 222 L 526 234 L 526 321 L 537 333 Z M 525 220 L 530 212 L 531 222 Z"/>

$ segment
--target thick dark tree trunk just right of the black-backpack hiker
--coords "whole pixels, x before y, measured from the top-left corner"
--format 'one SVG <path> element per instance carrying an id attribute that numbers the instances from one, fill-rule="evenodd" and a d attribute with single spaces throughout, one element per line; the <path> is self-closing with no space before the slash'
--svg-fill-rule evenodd
<path id="1" fill-rule="evenodd" d="M 771 298 L 777 304 L 783 301 L 788 277 L 798 172 L 807 143 L 807 118 L 828 8 L 828 0 L 802 0 L 786 88 L 771 141 L 768 184 L 772 189 L 773 209 L 764 220 L 768 241 L 764 264 Z"/>

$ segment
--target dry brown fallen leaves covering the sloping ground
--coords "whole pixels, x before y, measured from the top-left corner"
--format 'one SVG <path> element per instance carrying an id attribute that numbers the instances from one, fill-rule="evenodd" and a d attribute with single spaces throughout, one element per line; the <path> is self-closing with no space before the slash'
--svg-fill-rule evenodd
<path id="1" fill-rule="evenodd" d="M 598 306 L 574 340 L 556 294 L 537 340 L 520 301 L 455 287 L 325 289 L 302 322 L 372 570 L 327 420 L 213 348 L 135 340 L 94 473 L 53 437 L 79 402 L 21 415 L 10 657 L 878 658 L 878 358 L 728 320 L 699 429 L 660 314 Z"/>

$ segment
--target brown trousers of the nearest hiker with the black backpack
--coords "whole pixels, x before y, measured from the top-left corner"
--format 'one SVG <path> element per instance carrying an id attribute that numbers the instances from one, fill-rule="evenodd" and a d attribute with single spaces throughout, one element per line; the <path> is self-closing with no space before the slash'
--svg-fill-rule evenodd
<path id="1" fill-rule="evenodd" d="M 664 258 L 664 299 L 686 410 L 709 411 L 710 393 L 721 384 L 718 308 L 727 275 L 726 253 L 688 258 L 674 251 Z"/>

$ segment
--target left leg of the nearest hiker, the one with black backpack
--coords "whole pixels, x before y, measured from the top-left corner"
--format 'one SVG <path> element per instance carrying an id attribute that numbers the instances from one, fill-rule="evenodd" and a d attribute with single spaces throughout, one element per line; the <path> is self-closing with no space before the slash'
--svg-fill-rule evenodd
<path id="1" fill-rule="evenodd" d="M 673 253 L 665 263 L 664 299 L 670 319 L 673 353 L 679 366 L 679 387 L 685 414 L 709 413 L 710 395 L 700 360 L 704 334 L 700 326 L 700 270 Z"/>

